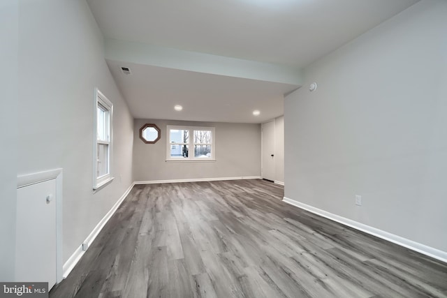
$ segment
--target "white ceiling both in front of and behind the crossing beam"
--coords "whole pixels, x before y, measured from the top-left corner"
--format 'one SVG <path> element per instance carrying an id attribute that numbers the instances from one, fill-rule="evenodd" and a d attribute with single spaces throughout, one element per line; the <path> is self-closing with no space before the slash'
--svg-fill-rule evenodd
<path id="1" fill-rule="evenodd" d="M 106 39 L 297 69 L 417 1 L 87 0 Z M 135 118 L 260 123 L 283 114 L 283 94 L 302 83 L 176 70 L 133 59 L 107 62 Z M 132 75 L 122 75 L 121 66 L 130 67 Z M 184 110 L 175 112 L 175 104 Z M 251 115 L 255 109 L 260 117 Z"/>

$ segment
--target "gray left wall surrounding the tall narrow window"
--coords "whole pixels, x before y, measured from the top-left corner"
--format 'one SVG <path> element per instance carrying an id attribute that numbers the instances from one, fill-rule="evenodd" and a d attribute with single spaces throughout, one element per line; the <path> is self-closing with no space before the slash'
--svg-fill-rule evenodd
<path id="1" fill-rule="evenodd" d="M 133 182 L 133 118 L 105 64 L 103 38 L 85 1 L 21 1 L 19 38 L 20 159 L 8 170 L 64 168 L 65 262 Z M 116 177 L 96 193 L 94 87 L 114 104 Z"/>

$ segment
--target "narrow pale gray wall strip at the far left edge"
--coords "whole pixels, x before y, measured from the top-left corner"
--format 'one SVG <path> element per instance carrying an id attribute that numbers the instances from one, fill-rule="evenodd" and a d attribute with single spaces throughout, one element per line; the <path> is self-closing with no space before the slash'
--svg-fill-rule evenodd
<path id="1" fill-rule="evenodd" d="M 0 1 L 0 281 L 14 277 L 18 8 L 16 0 Z"/>

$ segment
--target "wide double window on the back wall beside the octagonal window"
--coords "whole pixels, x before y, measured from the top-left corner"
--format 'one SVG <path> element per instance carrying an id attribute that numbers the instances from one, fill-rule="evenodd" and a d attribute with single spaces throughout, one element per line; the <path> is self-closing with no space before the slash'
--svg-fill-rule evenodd
<path id="1" fill-rule="evenodd" d="M 214 161 L 214 127 L 168 126 L 166 161 Z"/>

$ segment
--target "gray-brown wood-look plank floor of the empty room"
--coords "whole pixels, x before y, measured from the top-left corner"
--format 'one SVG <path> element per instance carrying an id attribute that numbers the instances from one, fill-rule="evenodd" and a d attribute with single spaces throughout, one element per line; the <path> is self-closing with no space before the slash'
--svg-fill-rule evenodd
<path id="1" fill-rule="evenodd" d="M 447 264 L 262 180 L 134 186 L 50 297 L 447 297 Z"/>

